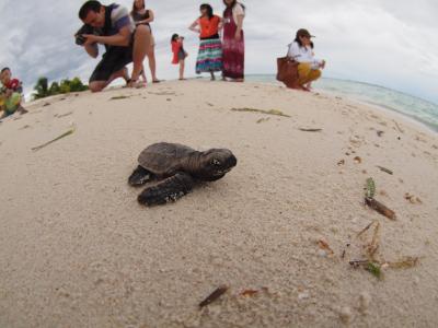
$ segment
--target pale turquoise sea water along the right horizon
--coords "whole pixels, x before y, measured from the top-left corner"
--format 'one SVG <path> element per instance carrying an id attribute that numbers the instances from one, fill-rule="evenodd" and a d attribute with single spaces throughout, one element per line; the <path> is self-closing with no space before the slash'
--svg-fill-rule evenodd
<path id="1" fill-rule="evenodd" d="M 278 83 L 274 75 L 247 75 L 246 81 Z M 337 79 L 323 78 L 313 87 L 397 112 L 438 132 L 438 105 L 428 101 L 379 85 Z"/>

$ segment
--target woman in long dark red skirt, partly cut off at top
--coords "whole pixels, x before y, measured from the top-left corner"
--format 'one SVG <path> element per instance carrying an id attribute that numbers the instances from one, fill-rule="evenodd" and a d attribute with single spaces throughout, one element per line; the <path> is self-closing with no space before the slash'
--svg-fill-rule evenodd
<path id="1" fill-rule="evenodd" d="M 237 0 L 223 0 L 223 71 L 222 77 L 234 82 L 244 81 L 245 43 L 243 19 L 245 8 Z"/>

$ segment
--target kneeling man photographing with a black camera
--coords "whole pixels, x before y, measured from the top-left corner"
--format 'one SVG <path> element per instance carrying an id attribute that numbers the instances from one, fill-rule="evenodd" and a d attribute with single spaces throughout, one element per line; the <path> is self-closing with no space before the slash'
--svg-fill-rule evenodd
<path id="1" fill-rule="evenodd" d="M 94 0 L 81 7 L 79 17 L 85 25 L 76 35 L 77 44 L 83 46 L 93 58 L 99 56 L 97 44 L 106 48 L 90 78 L 90 90 L 100 92 L 117 78 L 127 80 L 128 86 L 141 86 L 138 79 L 151 45 L 151 34 L 147 26 L 136 27 L 126 8 L 118 4 L 103 5 Z M 130 62 L 134 62 L 131 79 L 126 69 Z"/>

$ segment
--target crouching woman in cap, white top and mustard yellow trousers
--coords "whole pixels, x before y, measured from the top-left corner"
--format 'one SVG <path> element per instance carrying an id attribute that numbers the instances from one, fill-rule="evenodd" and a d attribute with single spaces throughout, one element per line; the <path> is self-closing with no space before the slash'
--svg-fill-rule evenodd
<path id="1" fill-rule="evenodd" d="M 297 36 L 289 45 L 288 57 L 298 61 L 298 85 L 301 90 L 310 91 L 308 83 L 321 78 L 321 70 L 325 68 L 325 60 L 314 58 L 312 49 L 313 36 L 309 31 L 301 28 L 297 32 Z"/>

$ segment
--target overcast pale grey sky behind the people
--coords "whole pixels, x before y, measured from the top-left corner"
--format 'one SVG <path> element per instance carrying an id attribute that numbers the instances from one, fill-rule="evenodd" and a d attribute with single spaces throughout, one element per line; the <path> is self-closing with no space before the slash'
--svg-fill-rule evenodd
<path id="1" fill-rule="evenodd" d="M 242 0 L 243 1 L 243 0 Z M 118 3 L 131 5 L 130 0 Z M 198 0 L 147 0 L 155 12 L 161 79 L 177 77 L 171 66 L 170 37 L 187 37 L 187 74 L 194 75 Z M 83 0 L 1 0 L 0 66 L 32 86 L 38 77 L 88 80 L 96 60 L 74 45 Z M 104 2 L 111 3 L 111 1 Z M 221 0 L 211 0 L 221 14 Z M 438 0 L 245 0 L 246 73 L 275 73 L 276 57 L 300 27 L 315 39 L 316 56 L 327 61 L 326 77 L 374 83 L 438 103 Z"/>

